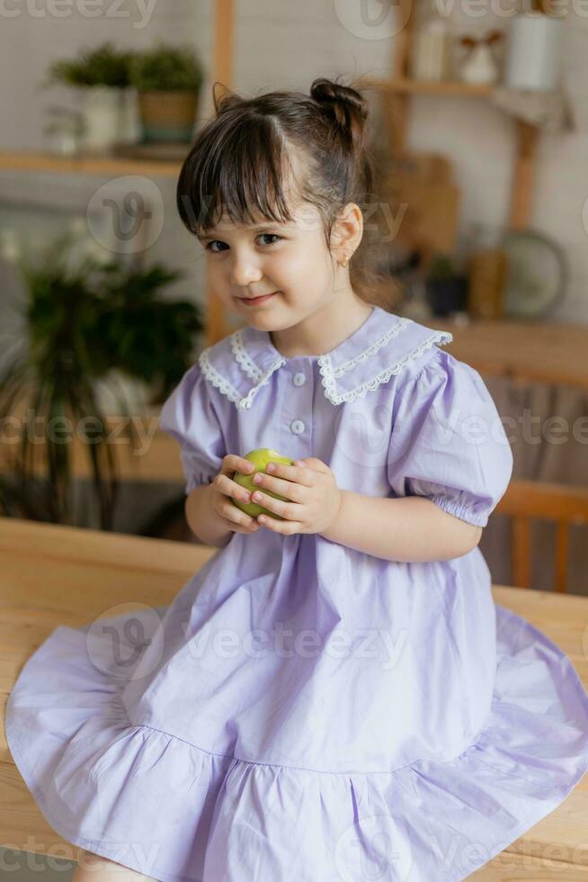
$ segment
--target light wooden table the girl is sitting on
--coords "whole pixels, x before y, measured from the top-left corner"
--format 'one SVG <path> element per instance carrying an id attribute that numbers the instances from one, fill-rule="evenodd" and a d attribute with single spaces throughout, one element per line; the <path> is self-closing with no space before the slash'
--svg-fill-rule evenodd
<path id="1" fill-rule="evenodd" d="M 169 604 L 215 548 L 0 518 L 0 843 L 76 860 L 40 814 L 4 740 L 4 707 L 22 664 L 58 625 L 80 626 L 120 603 Z M 584 685 L 588 598 L 493 586 L 494 600 L 566 652 Z M 470 878 L 588 880 L 588 775 L 558 806 Z M 584 846 L 584 847 L 582 847 Z M 547 856 L 547 857 L 539 857 Z M 566 860 L 562 860 L 564 857 Z M 556 860 L 556 868 L 553 862 Z"/>

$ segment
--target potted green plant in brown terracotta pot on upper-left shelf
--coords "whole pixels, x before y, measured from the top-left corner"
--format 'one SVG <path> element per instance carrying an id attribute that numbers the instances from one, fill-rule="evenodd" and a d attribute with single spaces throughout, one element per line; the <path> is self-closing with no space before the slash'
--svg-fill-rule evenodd
<path id="1" fill-rule="evenodd" d="M 159 43 L 130 62 L 145 142 L 192 140 L 203 71 L 193 49 Z"/>

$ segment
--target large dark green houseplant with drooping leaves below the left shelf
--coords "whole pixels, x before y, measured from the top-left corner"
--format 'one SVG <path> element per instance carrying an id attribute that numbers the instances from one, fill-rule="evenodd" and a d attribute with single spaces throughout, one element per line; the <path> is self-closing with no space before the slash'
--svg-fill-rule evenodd
<path id="1" fill-rule="evenodd" d="M 0 510 L 72 524 L 77 437 L 100 526 L 111 529 L 120 480 L 98 385 L 120 371 L 151 383 L 153 403 L 163 401 L 192 364 L 193 336 L 202 324 L 196 305 L 159 296 L 178 272 L 160 264 L 146 270 L 103 264 L 92 255 L 72 266 L 71 245 L 66 234 L 40 259 L 18 261 L 28 347 L 4 359 L 0 371 L 0 423 L 13 427 Z M 124 399 L 120 412 L 130 416 Z M 132 420 L 123 421 L 120 437 L 135 443 Z"/>

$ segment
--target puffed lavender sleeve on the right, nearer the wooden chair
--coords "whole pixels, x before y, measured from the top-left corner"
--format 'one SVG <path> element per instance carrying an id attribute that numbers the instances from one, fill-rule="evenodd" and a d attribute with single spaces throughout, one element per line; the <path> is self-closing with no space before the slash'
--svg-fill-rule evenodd
<path id="1" fill-rule="evenodd" d="M 396 392 L 387 462 L 396 496 L 426 496 L 486 527 L 512 462 L 500 415 L 474 368 L 439 350 Z"/>

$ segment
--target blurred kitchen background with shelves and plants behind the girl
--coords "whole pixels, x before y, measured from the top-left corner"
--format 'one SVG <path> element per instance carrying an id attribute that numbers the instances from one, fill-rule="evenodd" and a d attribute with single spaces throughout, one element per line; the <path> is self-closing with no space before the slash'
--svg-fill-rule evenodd
<path id="1" fill-rule="evenodd" d="M 214 83 L 342 76 L 379 175 L 366 299 L 449 329 L 512 443 L 493 581 L 588 594 L 588 10 L 13 0 L 0 20 L 0 514 L 196 541 L 157 414 L 239 318 L 209 298 L 179 168 Z"/>

